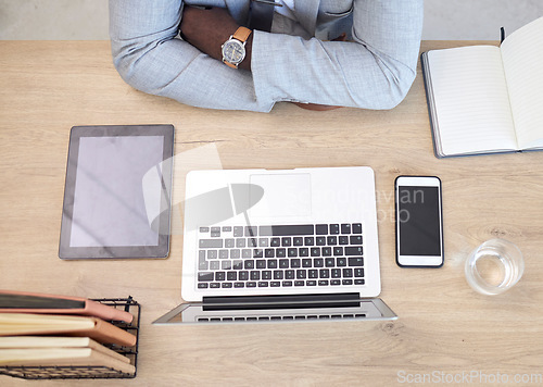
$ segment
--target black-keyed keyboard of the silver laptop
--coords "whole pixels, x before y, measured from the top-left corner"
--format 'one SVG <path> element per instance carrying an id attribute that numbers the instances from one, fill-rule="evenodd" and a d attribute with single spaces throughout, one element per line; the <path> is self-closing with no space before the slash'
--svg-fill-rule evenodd
<path id="1" fill-rule="evenodd" d="M 199 228 L 198 288 L 361 286 L 361 223 Z"/>

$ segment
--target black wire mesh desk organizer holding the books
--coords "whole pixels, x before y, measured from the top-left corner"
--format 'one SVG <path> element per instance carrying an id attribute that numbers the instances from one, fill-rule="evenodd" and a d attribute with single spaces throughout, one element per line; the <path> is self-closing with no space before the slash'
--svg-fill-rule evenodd
<path id="1" fill-rule="evenodd" d="M 130 324 L 117 321 L 109 323 L 118 326 L 136 336 L 136 346 L 123 347 L 104 344 L 105 347 L 124 354 L 130 359 L 130 364 L 136 367 L 134 374 L 123 373 L 106 366 L 0 366 L 0 375 L 9 375 L 23 379 L 101 379 L 101 378 L 134 378 L 138 366 L 138 345 L 139 345 L 139 322 L 141 307 L 138 302 L 128 298 L 103 298 L 94 299 L 103 304 L 122 309 L 134 315 Z"/>

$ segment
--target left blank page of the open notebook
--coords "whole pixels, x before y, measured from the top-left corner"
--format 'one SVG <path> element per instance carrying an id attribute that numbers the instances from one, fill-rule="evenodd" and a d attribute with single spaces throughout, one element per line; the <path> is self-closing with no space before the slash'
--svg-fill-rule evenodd
<path id="1" fill-rule="evenodd" d="M 434 50 L 428 62 L 444 154 L 517 149 L 500 48 Z"/>

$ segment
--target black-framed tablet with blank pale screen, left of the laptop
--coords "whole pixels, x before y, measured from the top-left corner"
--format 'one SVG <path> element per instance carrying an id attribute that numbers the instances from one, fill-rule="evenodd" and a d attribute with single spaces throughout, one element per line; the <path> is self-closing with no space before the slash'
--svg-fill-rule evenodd
<path id="1" fill-rule="evenodd" d="M 173 125 L 74 126 L 61 259 L 166 258 Z"/>

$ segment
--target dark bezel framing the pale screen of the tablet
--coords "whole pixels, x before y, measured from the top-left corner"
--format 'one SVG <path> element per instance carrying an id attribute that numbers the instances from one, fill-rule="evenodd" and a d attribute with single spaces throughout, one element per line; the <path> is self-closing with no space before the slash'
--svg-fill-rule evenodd
<path id="1" fill-rule="evenodd" d="M 81 137 L 132 137 L 132 136 L 162 136 L 162 160 L 168 161 L 169 167 L 163 168 L 166 174 L 163 179 L 163 189 L 168 194 L 166 202 L 161 203 L 159 216 L 157 246 L 104 246 L 104 247 L 71 247 L 72 215 L 74 211 L 74 194 L 79 154 L 79 139 Z M 174 155 L 174 126 L 173 125 L 104 125 L 104 126 L 74 126 L 70 133 L 70 147 L 66 164 L 66 180 L 64 187 L 64 202 L 62 209 L 61 235 L 59 258 L 63 260 L 78 259 L 127 259 L 127 258 L 167 258 L 169 254 L 171 229 L 171 192 L 173 182 L 172 158 Z M 164 232 L 167 230 L 167 232 Z"/>

